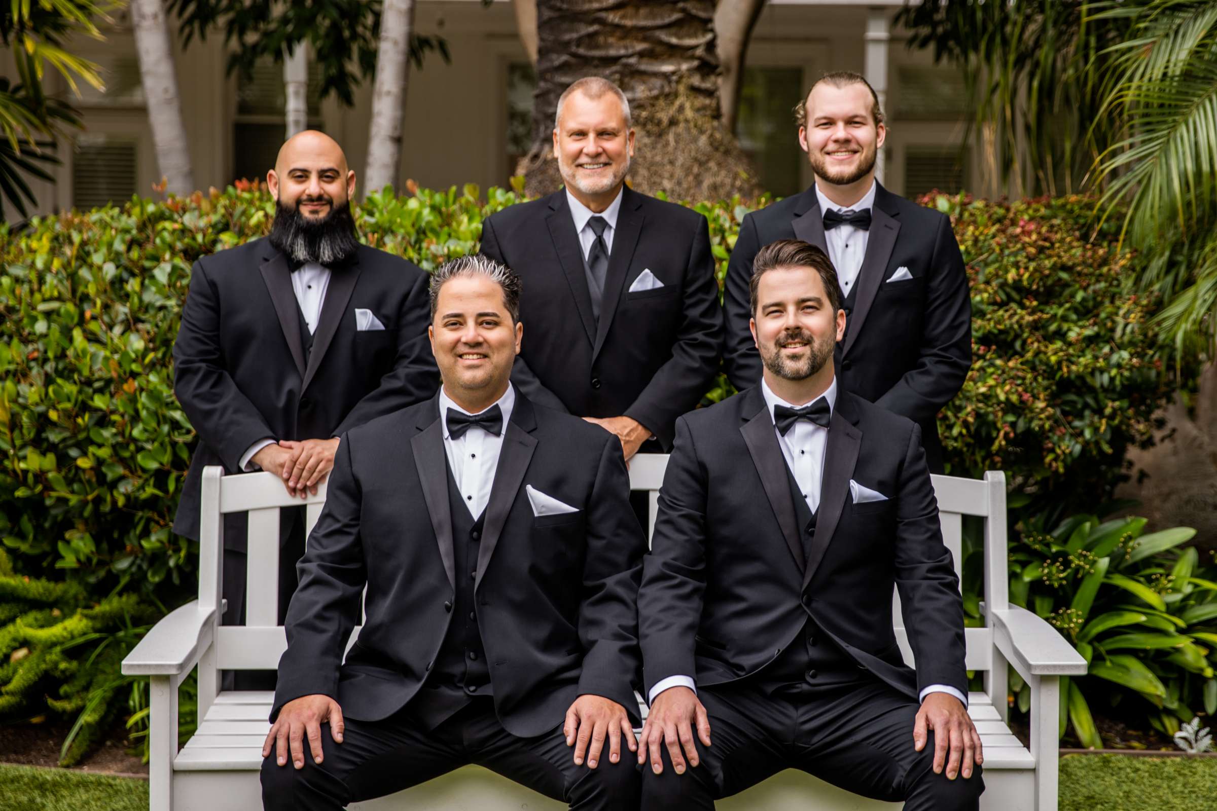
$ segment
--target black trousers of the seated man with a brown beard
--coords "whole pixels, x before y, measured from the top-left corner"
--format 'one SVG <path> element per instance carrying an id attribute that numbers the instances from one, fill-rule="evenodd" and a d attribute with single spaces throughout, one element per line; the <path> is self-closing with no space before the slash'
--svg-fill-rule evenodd
<path id="1" fill-rule="evenodd" d="M 913 748 L 918 703 L 887 685 L 813 689 L 733 682 L 699 688 L 711 745 L 684 775 L 663 748 L 663 772 L 643 771 L 643 811 L 702 811 L 714 800 L 798 768 L 863 796 L 904 801 L 907 811 L 976 811 L 981 770 L 968 779 L 933 773 L 933 733 Z M 696 738 L 696 731 L 694 732 Z"/>

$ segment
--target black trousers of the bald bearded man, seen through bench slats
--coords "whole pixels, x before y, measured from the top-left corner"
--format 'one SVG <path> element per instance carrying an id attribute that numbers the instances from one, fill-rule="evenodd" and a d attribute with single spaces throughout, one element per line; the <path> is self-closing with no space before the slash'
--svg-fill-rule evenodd
<path id="1" fill-rule="evenodd" d="M 279 511 L 279 576 L 277 582 L 262 584 L 279 591 L 279 624 L 287 619 L 287 604 L 296 593 L 299 580 L 296 564 L 304 557 L 304 507 L 285 507 Z M 220 591 L 226 603 L 220 625 L 245 625 L 245 586 L 248 556 L 237 550 L 224 550 L 224 582 Z M 224 670 L 220 671 L 220 689 L 275 689 L 274 670 Z"/>

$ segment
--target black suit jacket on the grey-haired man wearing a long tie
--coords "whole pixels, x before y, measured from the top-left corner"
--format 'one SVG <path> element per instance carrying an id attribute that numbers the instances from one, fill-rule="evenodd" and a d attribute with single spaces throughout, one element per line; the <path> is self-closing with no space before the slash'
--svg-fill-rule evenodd
<path id="1" fill-rule="evenodd" d="M 718 372 L 723 315 L 701 214 L 622 192 L 599 325 L 566 191 L 482 225 L 482 253 L 523 280 L 523 351 L 512 382 L 534 402 L 579 417 L 624 415 L 672 447 L 677 417 Z M 663 283 L 629 292 L 644 270 Z"/>

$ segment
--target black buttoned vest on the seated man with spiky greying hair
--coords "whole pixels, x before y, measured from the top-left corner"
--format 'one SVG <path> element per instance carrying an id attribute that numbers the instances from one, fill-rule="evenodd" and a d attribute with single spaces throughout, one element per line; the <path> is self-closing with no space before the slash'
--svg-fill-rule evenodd
<path id="1" fill-rule="evenodd" d="M 456 573 L 456 598 L 452 621 L 439 647 L 424 688 L 410 702 L 414 715 L 428 730 L 452 717 L 478 695 L 493 695 L 490 671 L 477 624 L 473 581 L 477 576 L 477 551 L 482 540 L 486 511 L 473 519 L 469 501 L 461 495 L 452 468 L 444 457 L 448 475 L 448 511 L 453 519 L 453 570 Z"/>

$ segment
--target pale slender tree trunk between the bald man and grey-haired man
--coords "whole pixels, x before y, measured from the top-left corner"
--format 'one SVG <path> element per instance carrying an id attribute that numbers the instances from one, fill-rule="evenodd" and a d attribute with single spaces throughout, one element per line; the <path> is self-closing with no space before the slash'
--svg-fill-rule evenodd
<path id="1" fill-rule="evenodd" d="M 402 162 L 402 119 L 410 72 L 410 29 L 414 0 L 385 0 L 381 12 L 376 80 L 372 84 L 372 120 L 368 136 L 364 188 L 380 191 L 397 180 Z"/>

